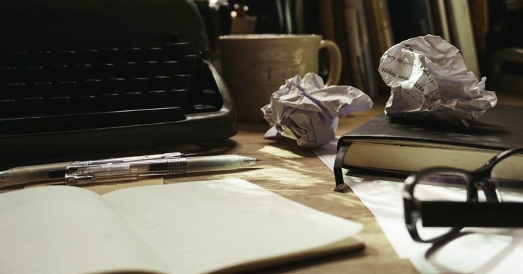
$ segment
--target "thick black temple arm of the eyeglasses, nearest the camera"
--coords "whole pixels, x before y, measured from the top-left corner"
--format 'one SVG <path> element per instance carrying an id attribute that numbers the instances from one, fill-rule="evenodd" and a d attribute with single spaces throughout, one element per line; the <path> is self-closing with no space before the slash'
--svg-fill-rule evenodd
<path id="1" fill-rule="evenodd" d="M 523 227 L 523 203 L 422 201 L 426 227 Z"/>

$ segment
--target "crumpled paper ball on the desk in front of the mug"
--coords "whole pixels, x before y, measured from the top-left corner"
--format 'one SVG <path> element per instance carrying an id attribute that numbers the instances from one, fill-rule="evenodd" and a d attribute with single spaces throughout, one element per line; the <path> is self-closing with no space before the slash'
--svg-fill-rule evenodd
<path id="1" fill-rule="evenodd" d="M 264 118 L 273 126 L 266 138 L 284 136 L 296 139 L 300 147 L 320 147 L 335 137 L 338 116 L 369 110 L 372 100 L 347 85 L 325 87 L 315 73 L 296 75 L 285 81 L 262 107 Z"/>

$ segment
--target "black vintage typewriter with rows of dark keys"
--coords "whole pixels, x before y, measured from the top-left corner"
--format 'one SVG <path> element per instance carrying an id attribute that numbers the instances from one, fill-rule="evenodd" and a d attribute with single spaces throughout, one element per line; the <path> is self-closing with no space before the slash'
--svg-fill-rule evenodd
<path id="1" fill-rule="evenodd" d="M 237 132 L 193 1 L 6 0 L 0 32 L 1 167 Z"/>

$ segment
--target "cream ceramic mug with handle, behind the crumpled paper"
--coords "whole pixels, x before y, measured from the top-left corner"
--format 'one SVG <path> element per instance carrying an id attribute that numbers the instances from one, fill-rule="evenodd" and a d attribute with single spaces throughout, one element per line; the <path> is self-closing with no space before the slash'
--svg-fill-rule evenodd
<path id="1" fill-rule="evenodd" d="M 318 53 L 329 56 L 326 85 L 340 80 L 341 54 L 335 43 L 318 35 L 245 34 L 221 36 L 222 75 L 240 122 L 261 122 L 260 110 L 271 94 L 295 75 L 318 73 Z"/>

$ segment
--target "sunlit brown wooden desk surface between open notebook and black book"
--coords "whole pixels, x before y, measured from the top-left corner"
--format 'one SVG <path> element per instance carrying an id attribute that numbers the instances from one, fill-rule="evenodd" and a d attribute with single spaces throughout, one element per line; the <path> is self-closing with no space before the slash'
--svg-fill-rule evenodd
<path id="1" fill-rule="evenodd" d="M 337 134 L 362 124 L 382 112 L 384 100 L 372 110 L 351 115 L 341 121 Z M 360 233 L 365 241 L 363 251 L 344 253 L 269 268 L 257 273 L 416 273 L 409 260 L 400 260 L 370 211 L 352 194 L 333 191 L 334 175 L 309 149 L 298 147 L 296 141 L 264 139 L 269 125 L 240 123 L 239 132 L 223 145 L 225 153 L 242 154 L 261 159 L 252 169 L 220 174 L 180 176 L 168 181 L 241 178 L 298 201 L 314 209 L 363 223 Z M 306 241 L 306 239 L 304 239 Z"/>

